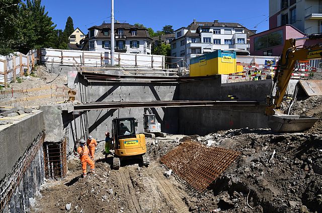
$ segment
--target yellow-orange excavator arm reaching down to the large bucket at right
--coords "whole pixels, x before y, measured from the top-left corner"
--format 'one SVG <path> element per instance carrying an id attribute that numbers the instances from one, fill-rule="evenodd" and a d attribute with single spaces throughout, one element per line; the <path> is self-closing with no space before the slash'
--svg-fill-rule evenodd
<path id="1" fill-rule="evenodd" d="M 322 43 L 321 38 L 322 34 L 315 34 L 308 38 L 303 38 L 303 40 L 320 40 L 320 43 Z M 322 56 L 322 44 L 309 47 L 296 47 L 295 43 L 297 40 L 300 39 L 289 39 L 285 41 L 284 49 L 275 71 L 273 88 L 270 95 L 266 97 L 266 103 L 268 104 L 265 112 L 266 115 L 284 113 L 284 111 L 281 110 L 281 104 L 297 61 L 318 59 Z M 275 86 L 276 94 L 273 96 L 273 89 Z"/>

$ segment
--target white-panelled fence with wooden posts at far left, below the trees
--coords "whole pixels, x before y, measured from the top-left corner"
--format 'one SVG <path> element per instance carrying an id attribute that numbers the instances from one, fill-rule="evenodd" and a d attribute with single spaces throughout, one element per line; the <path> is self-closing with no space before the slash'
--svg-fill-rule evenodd
<path id="1" fill-rule="evenodd" d="M 37 50 L 30 50 L 27 55 L 16 52 L 10 56 L 0 56 L 0 85 L 7 88 L 11 81 L 16 81 L 25 73 L 29 75 L 37 59 Z"/>

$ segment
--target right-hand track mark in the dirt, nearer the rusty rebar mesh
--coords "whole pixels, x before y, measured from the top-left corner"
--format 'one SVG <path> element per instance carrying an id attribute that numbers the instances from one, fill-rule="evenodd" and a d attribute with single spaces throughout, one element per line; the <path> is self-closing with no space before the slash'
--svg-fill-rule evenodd
<path id="1" fill-rule="evenodd" d="M 178 189 L 176 189 L 169 180 L 165 179 L 163 173 L 157 171 L 152 174 L 152 177 L 157 181 L 158 188 L 166 198 L 167 202 L 170 203 L 178 213 L 189 212 L 186 203 L 178 193 Z"/>

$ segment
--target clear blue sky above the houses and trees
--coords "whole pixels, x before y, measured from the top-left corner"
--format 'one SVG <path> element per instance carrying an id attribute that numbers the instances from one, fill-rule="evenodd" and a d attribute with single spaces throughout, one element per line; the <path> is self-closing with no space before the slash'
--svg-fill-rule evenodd
<path id="1" fill-rule="evenodd" d="M 79 27 L 85 34 L 88 28 L 111 21 L 111 1 L 42 0 L 48 16 L 64 29 L 67 17 L 73 19 L 74 28 Z M 197 22 L 236 22 L 257 33 L 269 28 L 268 0 L 114 0 L 115 20 L 121 23 L 143 24 L 154 31 L 172 25 L 176 30 Z"/>

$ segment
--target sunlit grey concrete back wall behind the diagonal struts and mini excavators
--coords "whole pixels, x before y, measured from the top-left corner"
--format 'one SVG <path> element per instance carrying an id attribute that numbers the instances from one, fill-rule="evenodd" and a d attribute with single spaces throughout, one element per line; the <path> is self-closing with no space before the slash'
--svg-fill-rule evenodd
<path id="1" fill-rule="evenodd" d="M 81 84 L 80 84 L 81 85 Z M 155 101 L 178 100 L 177 84 L 150 83 L 92 83 L 86 88 L 88 102 L 95 101 Z M 178 132 L 178 109 L 152 108 L 156 119 L 161 123 L 162 131 Z M 143 132 L 143 108 L 92 110 L 88 113 L 89 132 L 98 140 L 105 139 L 104 133 L 111 132 L 112 119 L 116 117 L 134 117 L 138 120 L 137 132 Z"/>

